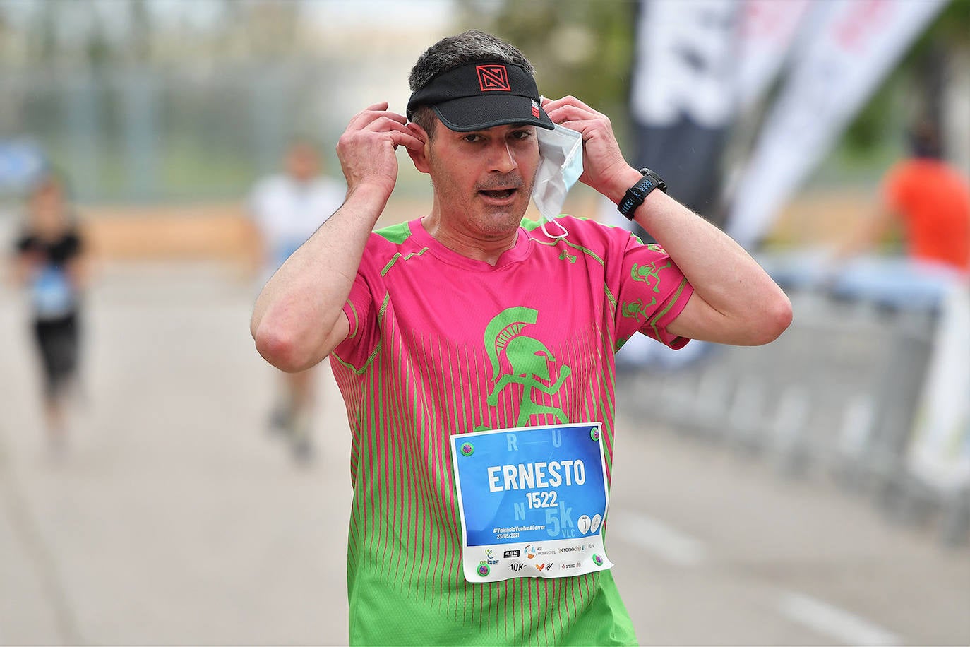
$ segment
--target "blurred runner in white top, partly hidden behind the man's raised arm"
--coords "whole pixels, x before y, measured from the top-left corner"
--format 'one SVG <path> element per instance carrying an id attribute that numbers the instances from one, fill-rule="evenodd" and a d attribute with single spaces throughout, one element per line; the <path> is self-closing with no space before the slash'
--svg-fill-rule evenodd
<path id="1" fill-rule="evenodd" d="M 297 247 L 343 203 L 345 187 L 320 175 L 320 158 L 307 140 L 287 147 L 284 172 L 257 182 L 248 208 L 259 232 L 260 287 Z M 271 429 L 289 438 L 294 457 L 312 455 L 312 395 L 315 369 L 281 372 L 270 415 Z"/>

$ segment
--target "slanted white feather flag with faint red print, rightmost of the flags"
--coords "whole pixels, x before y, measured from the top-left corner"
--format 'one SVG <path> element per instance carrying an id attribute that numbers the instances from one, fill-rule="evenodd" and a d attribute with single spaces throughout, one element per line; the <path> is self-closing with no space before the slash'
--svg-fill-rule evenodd
<path id="1" fill-rule="evenodd" d="M 813 20 L 744 171 L 727 233 L 760 241 L 778 211 L 946 0 L 833 0 Z M 813 16 L 815 17 L 815 16 Z"/>

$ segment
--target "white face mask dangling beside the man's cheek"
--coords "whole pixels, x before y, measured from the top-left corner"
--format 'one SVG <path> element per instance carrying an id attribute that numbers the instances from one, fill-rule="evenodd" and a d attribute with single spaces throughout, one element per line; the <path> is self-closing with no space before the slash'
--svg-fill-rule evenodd
<path id="1" fill-rule="evenodd" d="M 563 209 L 566 193 L 583 175 L 583 136 L 556 124 L 555 130 L 536 128 L 539 142 L 539 168 L 535 172 L 533 202 L 541 217 L 539 224 L 549 238 L 566 238 L 569 232 L 560 223 L 562 234 L 553 236 L 545 225 L 553 222 Z"/>

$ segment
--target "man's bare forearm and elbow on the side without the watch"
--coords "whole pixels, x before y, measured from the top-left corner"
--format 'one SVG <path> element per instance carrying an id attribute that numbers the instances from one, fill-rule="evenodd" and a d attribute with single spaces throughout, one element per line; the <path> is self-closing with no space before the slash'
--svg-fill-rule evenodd
<path id="1" fill-rule="evenodd" d="M 253 308 L 250 332 L 270 364 L 302 371 L 342 340 L 340 313 L 386 203 L 383 191 L 358 187 L 267 282 Z"/>

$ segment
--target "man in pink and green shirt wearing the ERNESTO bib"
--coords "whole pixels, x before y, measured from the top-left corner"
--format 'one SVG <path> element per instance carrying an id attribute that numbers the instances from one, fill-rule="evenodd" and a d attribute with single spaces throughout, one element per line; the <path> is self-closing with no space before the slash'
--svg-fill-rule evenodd
<path id="1" fill-rule="evenodd" d="M 766 343 L 791 305 L 739 245 L 627 164 L 605 115 L 541 101 L 518 49 L 478 31 L 445 38 L 410 87 L 406 116 L 381 103 L 350 121 L 346 200 L 269 281 L 251 322 L 283 371 L 330 356 L 347 406 L 350 641 L 635 644 L 611 565 L 588 548 L 601 515 L 556 501 L 608 488 L 614 352 L 636 332 L 673 347 Z M 579 179 L 660 245 L 578 218 L 557 219 L 555 238 L 523 221 L 537 133 L 554 124 L 581 133 Z M 430 176 L 434 202 L 372 232 L 397 146 Z M 585 462 L 565 453 L 583 435 Z M 486 463 L 459 473 L 475 461 Z M 476 501 L 548 523 L 483 524 Z M 550 541 L 527 542 L 535 533 Z"/>

